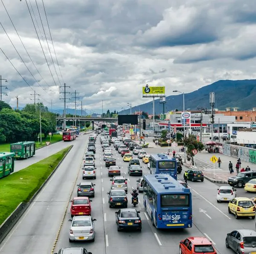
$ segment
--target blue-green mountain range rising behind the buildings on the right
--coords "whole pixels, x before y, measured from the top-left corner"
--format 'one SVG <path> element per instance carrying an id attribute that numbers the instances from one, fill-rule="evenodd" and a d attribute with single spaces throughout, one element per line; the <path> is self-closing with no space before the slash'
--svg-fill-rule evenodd
<path id="1" fill-rule="evenodd" d="M 209 93 L 215 93 L 215 106 L 219 110 L 236 107 L 239 110 L 250 110 L 256 107 L 256 80 L 219 80 L 196 91 L 187 93 L 185 109 L 210 108 Z M 153 102 L 144 103 L 132 108 L 132 112 L 145 111 L 152 114 Z M 166 96 L 165 112 L 178 109 L 183 110 L 183 94 Z M 155 114 L 163 112 L 160 99 L 155 100 Z M 120 111 L 119 114 L 130 114 L 130 109 Z"/>

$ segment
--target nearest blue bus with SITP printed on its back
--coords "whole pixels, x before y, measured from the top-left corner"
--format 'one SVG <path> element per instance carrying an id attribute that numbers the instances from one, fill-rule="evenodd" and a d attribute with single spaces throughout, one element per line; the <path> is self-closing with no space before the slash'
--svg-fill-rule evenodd
<path id="1" fill-rule="evenodd" d="M 144 176 L 143 203 L 156 228 L 191 228 L 192 195 L 167 174 Z"/>

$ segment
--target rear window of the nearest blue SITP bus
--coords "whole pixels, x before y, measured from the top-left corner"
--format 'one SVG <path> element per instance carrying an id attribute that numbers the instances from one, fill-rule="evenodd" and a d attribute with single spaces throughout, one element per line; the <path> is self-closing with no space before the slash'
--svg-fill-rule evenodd
<path id="1" fill-rule="evenodd" d="M 166 194 L 161 195 L 161 207 L 189 206 L 188 194 Z"/>

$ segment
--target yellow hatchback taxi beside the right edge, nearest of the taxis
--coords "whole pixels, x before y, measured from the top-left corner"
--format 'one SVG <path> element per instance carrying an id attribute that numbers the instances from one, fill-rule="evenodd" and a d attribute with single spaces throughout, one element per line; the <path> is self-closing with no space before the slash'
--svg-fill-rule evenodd
<path id="1" fill-rule="evenodd" d="M 239 217 L 251 217 L 254 220 L 255 206 L 248 197 L 235 197 L 228 204 L 228 213 L 235 214 L 236 219 L 239 219 Z"/>

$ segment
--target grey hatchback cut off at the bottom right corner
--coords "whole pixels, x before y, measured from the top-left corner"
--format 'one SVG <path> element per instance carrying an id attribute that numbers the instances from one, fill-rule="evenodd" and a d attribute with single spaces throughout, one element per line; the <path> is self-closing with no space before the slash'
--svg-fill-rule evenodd
<path id="1" fill-rule="evenodd" d="M 237 254 L 256 253 L 256 232 L 250 229 L 234 230 L 227 234 L 226 247 Z"/>

